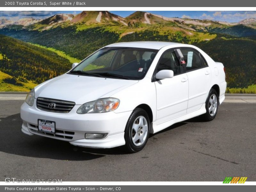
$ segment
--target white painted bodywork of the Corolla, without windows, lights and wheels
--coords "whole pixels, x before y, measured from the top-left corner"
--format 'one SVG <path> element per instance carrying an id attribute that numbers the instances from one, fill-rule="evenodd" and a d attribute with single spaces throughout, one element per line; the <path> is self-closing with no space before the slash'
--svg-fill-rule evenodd
<path id="1" fill-rule="evenodd" d="M 112 148 L 125 144 L 126 123 L 134 108 L 141 104 L 150 107 L 153 116 L 150 131 L 156 133 L 174 123 L 204 114 L 205 101 L 213 85 L 219 87 L 220 104 L 225 99 L 227 84 L 222 63 L 214 62 L 206 53 L 193 45 L 129 42 L 108 45 L 108 47 L 111 46 L 157 49 L 158 52 L 147 74 L 141 80 L 64 74 L 36 86 L 34 105 L 30 107 L 24 103 L 21 106 L 22 132 L 28 135 L 42 135 L 31 132 L 29 129 L 37 125 L 37 119 L 44 119 L 56 122 L 57 130 L 75 132 L 72 140 L 58 137 L 54 139 L 66 140 L 73 145 L 83 147 Z M 208 67 L 152 82 L 151 79 L 161 55 L 166 50 L 176 47 L 196 49 L 204 56 Z M 208 72 L 209 74 L 206 75 Z M 73 101 L 76 105 L 66 114 L 47 112 L 36 107 L 37 97 Z M 120 100 L 120 105 L 115 111 L 84 115 L 76 113 L 82 104 L 107 97 Z M 87 132 L 108 133 L 108 136 L 101 140 L 89 140 L 84 138 Z"/>

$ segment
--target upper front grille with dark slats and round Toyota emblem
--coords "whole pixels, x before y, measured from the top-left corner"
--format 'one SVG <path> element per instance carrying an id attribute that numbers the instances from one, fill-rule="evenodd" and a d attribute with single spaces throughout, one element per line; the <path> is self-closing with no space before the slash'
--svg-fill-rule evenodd
<path id="1" fill-rule="evenodd" d="M 68 113 L 75 105 L 76 103 L 72 101 L 49 99 L 44 97 L 38 97 L 36 99 L 37 108 L 55 113 Z"/>

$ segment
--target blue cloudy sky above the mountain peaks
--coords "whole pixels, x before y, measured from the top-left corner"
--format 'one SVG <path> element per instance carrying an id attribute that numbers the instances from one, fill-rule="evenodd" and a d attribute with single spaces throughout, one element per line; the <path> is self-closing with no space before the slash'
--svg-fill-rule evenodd
<path id="1" fill-rule="evenodd" d="M 78 14 L 81 11 L 0 11 L 0 19 L 18 20 L 24 17 L 44 19 L 57 13 Z M 116 15 L 127 17 L 134 11 L 110 11 Z M 191 19 L 209 19 L 226 22 L 238 22 L 247 18 L 256 18 L 256 11 L 147 11 L 165 17 Z"/>

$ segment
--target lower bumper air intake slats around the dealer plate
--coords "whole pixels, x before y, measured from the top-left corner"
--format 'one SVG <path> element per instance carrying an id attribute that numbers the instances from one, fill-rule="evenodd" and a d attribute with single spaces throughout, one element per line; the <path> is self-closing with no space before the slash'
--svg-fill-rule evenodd
<path id="1" fill-rule="evenodd" d="M 71 132 L 71 131 L 55 130 L 55 133 L 39 131 L 38 126 L 33 124 L 28 124 L 28 129 L 31 133 L 35 133 L 38 135 L 46 135 L 52 138 L 58 137 L 58 138 L 62 138 L 63 140 L 72 140 L 73 136 L 75 135 L 75 132 Z"/>

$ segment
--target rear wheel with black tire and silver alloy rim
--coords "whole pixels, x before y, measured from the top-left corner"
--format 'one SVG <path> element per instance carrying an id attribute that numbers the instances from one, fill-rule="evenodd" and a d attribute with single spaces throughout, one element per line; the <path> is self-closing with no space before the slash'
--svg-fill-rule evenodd
<path id="1" fill-rule="evenodd" d="M 203 115 L 205 121 L 212 121 L 218 112 L 219 97 L 215 89 L 211 89 L 205 102 L 206 113 Z"/>

